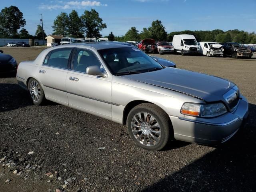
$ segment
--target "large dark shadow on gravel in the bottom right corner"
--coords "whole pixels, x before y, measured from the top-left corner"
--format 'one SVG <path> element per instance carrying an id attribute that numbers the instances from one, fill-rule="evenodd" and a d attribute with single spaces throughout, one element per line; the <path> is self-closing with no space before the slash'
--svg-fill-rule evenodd
<path id="1" fill-rule="evenodd" d="M 228 142 L 141 192 L 255 191 L 256 105 L 249 104 L 249 113 L 247 126 Z"/>

